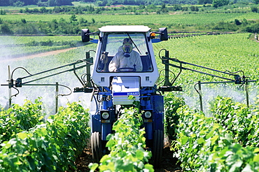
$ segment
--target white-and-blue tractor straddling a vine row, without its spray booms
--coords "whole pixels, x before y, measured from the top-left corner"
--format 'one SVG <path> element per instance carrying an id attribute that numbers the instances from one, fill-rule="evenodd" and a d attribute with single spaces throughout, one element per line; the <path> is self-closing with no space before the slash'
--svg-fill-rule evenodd
<path id="1" fill-rule="evenodd" d="M 120 115 L 121 106 L 132 106 L 139 101 L 144 127 L 146 130 L 146 145 L 153 152 L 153 164 L 158 166 L 164 146 L 164 99 L 157 93 L 158 66 L 155 62 L 152 42 L 167 41 L 167 29 L 160 28 L 152 32 L 146 26 L 105 26 L 99 28 L 99 33 L 82 30 L 82 41 L 91 41 L 90 35 L 98 34 L 98 45 L 92 67 L 91 77 L 97 90 L 94 92 L 96 106 L 91 109 L 91 147 L 95 162 L 104 155 L 106 136 L 112 133 L 113 123 Z M 160 38 L 153 39 L 154 34 Z M 123 41 L 132 44 L 132 52 L 141 60 L 130 61 L 132 53 L 123 50 Z M 127 67 L 118 67 L 111 71 L 111 61 L 118 54 L 129 59 Z M 136 54 L 137 53 L 137 54 Z M 127 59 L 128 58 L 128 59 Z M 117 60 L 118 62 L 118 60 Z M 142 66 L 138 68 L 139 65 Z M 110 69 L 109 69 L 110 68 Z"/>

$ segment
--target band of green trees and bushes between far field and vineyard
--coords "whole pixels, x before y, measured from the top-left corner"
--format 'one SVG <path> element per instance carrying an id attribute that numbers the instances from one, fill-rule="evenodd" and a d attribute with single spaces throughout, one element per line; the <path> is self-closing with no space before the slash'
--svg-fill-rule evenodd
<path id="1" fill-rule="evenodd" d="M 0 34 L 1 35 L 19 35 L 19 34 L 35 34 L 35 35 L 62 35 L 73 34 L 80 35 L 82 28 L 92 27 L 97 30 L 102 26 L 102 22 L 96 22 L 94 18 L 85 19 L 84 17 L 78 17 L 77 15 L 71 15 L 69 20 L 60 18 L 59 20 L 52 20 L 49 22 L 27 22 L 25 19 L 20 21 L 3 21 L 0 17 Z M 150 26 L 153 27 L 153 26 Z M 155 27 L 155 25 L 154 25 Z M 170 24 L 170 29 L 174 30 L 174 27 L 179 27 L 178 24 Z M 188 27 L 197 27 L 194 25 L 183 26 L 186 29 Z M 250 20 L 235 20 L 232 22 L 218 22 L 205 24 L 200 26 L 200 30 L 208 31 L 246 31 L 251 33 L 259 33 L 259 22 Z"/>

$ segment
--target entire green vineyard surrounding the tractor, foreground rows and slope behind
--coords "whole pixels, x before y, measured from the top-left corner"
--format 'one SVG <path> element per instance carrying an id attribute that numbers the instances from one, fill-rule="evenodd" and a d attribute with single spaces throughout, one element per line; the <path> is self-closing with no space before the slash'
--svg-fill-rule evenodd
<path id="1" fill-rule="evenodd" d="M 5 41 L 1 41 L 1 44 L 10 47 L 12 43 L 7 42 L 10 38 L 3 38 Z M 3 38 L 1 37 L 2 40 Z M 165 48 L 169 50 L 172 58 L 222 71 L 241 70 L 249 79 L 258 80 L 258 43 L 250 38 L 251 34 L 172 38 L 167 42 L 155 43 L 154 50 L 155 55 L 158 55 L 160 50 Z M 49 39 L 52 41 L 51 38 L 41 37 L 36 42 L 41 43 Z M 53 37 L 53 42 L 76 43 L 79 38 L 65 36 L 57 39 Z M 18 37 L 17 40 L 12 40 L 15 42 L 13 44 L 20 44 L 18 47 L 24 47 L 25 53 L 31 52 L 25 46 L 31 43 L 31 39 Z M 3 62 L 0 67 L 6 76 L 3 75 L 1 83 L 7 80 L 8 65 L 11 69 L 23 66 L 31 73 L 36 73 L 83 59 L 85 51 L 94 50 L 95 46 L 87 44 L 59 55 Z M 160 61 L 157 57 L 158 64 L 161 64 Z M 170 70 L 175 72 L 177 69 Z M 25 74 L 25 71 L 20 71 L 14 73 L 14 76 L 16 78 Z M 165 95 L 165 131 L 171 143 L 172 154 L 179 159 L 179 166 L 183 171 L 259 171 L 258 82 L 249 83 L 249 107 L 245 103 L 243 85 L 202 85 L 206 110 L 201 112 L 198 95 L 193 88 L 199 80 L 216 79 L 183 71 L 175 83 L 183 87 L 183 92 Z M 72 74 L 44 82 L 59 82 L 69 87 L 79 85 Z M 0 103 L 3 107 L 3 102 L 7 101 L 7 98 L 4 99 L 7 92 L 7 89 L 1 88 L 3 98 Z M 76 157 L 87 146 L 87 140 L 90 138 L 87 113 L 89 102 L 86 101 L 89 97 L 62 97 L 59 104 L 64 106 L 59 108 L 57 114 L 50 115 L 53 112 L 46 110 L 44 104 L 53 104 L 55 89 L 22 87 L 20 92 L 22 95 L 13 97 L 15 103 L 12 108 L 3 108 L 0 111 L 0 171 L 76 171 Z M 61 89 L 60 92 L 66 92 L 66 89 Z M 23 105 L 18 105 L 21 97 L 35 99 L 30 93 L 43 98 L 36 99 L 34 103 L 27 100 Z M 84 100 L 80 101 L 82 99 Z M 67 101 L 78 103 L 66 105 L 64 102 Z M 123 115 L 113 125 L 115 133 L 109 135 L 109 142 L 106 144 L 109 153 L 102 157 L 99 163 L 90 164 L 89 169 L 85 171 L 155 171 L 153 165 L 148 164 L 154 159 L 151 151 L 146 149 L 142 124 L 137 107 L 125 108 Z"/>

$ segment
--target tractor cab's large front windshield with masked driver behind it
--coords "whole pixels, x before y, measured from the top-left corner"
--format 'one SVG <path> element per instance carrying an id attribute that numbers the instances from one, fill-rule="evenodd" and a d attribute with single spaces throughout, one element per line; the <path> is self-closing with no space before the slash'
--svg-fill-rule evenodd
<path id="1" fill-rule="evenodd" d="M 97 72 L 153 71 L 144 33 L 104 35 Z"/>

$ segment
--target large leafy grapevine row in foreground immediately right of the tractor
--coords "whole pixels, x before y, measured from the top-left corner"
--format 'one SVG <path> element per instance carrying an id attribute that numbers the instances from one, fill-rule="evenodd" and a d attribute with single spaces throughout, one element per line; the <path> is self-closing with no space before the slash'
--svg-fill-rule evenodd
<path id="1" fill-rule="evenodd" d="M 174 99 L 174 97 L 171 99 Z M 223 106 L 226 108 L 231 108 L 232 106 L 231 103 L 224 104 L 217 102 L 216 104 L 219 104 L 218 111 L 221 111 L 220 108 Z M 229 107 L 227 107 L 228 105 Z M 171 126 L 176 124 L 176 127 L 174 127 L 176 140 L 172 141 L 172 150 L 174 150 L 174 156 L 179 159 L 184 170 L 259 170 L 259 148 L 254 146 L 256 143 L 244 147 L 239 143 L 240 139 L 236 139 L 237 134 L 233 136 L 232 131 L 217 122 L 221 121 L 221 119 L 216 120 L 216 117 L 206 117 L 204 113 L 199 110 L 191 110 L 188 106 L 184 105 L 184 103 L 181 103 L 181 107 L 178 108 L 174 114 L 170 113 L 174 110 L 174 107 L 169 107 L 167 107 L 167 113 L 169 113 L 167 115 L 172 115 L 172 119 L 174 119 L 170 124 Z M 230 111 L 235 113 L 235 110 Z M 255 115 L 257 119 L 259 118 L 258 113 L 254 113 L 253 115 Z M 258 120 L 255 120 L 255 117 L 253 121 L 258 122 Z M 232 118 L 232 115 L 229 115 L 228 120 Z M 239 118 L 240 119 L 237 119 L 237 116 L 235 116 L 235 120 L 238 121 L 241 120 L 241 115 Z M 235 123 L 235 125 L 237 125 L 237 123 Z M 239 128 L 239 126 L 236 128 Z M 255 130 L 258 132 L 258 124 L 256 126 L 257 128 L 255 128 Z M 244 129 L 242 126 L 240 126 L 240 128 Z M 254 133 L 251 134 L 253 135 Z M 254 137 L 251 141 L 255 141 Z"/>

